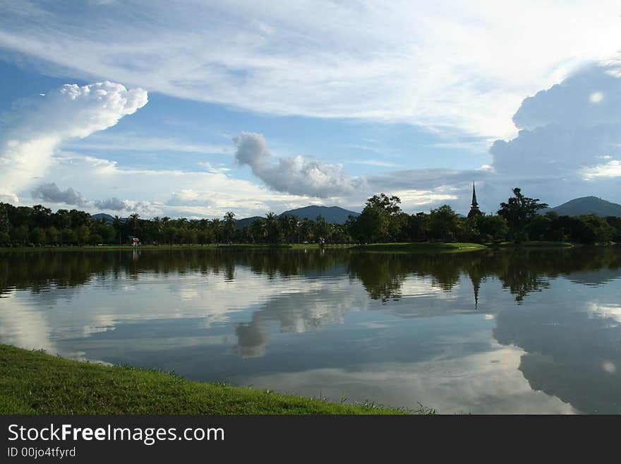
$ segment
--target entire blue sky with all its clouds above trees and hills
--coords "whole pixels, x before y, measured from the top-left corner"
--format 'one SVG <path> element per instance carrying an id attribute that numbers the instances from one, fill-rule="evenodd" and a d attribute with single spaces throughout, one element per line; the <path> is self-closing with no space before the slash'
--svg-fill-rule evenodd
<path id="1" fill-rule="evenodd" d="M 0 201 L 621 203 L 617 2 L 0 0 Z"/>

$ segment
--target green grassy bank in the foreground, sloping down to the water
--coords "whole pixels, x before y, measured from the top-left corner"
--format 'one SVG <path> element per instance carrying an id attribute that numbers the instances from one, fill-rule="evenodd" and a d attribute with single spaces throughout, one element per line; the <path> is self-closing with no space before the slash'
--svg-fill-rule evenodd
<path id="1" fill-rule="evenodd" d="M 0 414 L 400 414 L 0 345 Z M 414 411 L 413 411 L 414 412 Z M 419 410 L 416 412 L 431 412 Z"/>

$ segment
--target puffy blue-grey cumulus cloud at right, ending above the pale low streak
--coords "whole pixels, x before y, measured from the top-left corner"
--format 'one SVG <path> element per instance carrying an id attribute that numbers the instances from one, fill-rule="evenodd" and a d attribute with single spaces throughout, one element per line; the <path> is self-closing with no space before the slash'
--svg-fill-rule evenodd
<path id="1" fill-rule="evenodd" d="M 579 176 L 621 155 L 621 78 L 588 66 L 526 98 L 514 114 L 519 134 L 490 148 L 499 174 Z M 584 176 L 583 176 L 584 177 Z"/>

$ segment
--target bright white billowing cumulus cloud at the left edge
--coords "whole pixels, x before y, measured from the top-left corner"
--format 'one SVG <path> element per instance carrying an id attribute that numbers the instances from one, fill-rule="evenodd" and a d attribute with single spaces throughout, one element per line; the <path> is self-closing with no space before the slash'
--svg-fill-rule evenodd
<path id="1" fill-rule="evenodd" d="M 145 90 L 107 81 L 16 101 L 0 119 L 0 195 L 16 196 L 44 174 L 64 141 L 114 126 L 146 103 Z"/>

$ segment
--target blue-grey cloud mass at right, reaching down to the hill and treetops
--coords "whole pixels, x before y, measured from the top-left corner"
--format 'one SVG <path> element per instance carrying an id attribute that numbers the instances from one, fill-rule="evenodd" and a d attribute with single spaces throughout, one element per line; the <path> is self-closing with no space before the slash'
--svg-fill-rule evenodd
<path id="1" fill-rule="evenodd" d="M 494 182 L 529 183 L 548 203 L 594 194 L 619 201 L 606 179 L 621 176 L 620 105 L 617 65 L 585 66 L 526 98 L 513 117 L 518 136 L 490 148 Z"/>

